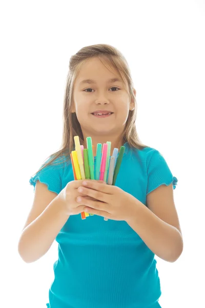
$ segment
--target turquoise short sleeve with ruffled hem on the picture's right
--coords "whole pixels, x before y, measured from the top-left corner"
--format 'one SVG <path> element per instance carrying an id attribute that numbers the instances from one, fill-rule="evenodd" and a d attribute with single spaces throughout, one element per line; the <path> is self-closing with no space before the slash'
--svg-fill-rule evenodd
<path id="1" fill-rule="evenodd" d="M 148 185 L 147 195 L 158 186 L 165 184 L 170 185 L 172 183 L 173 189 L 176 188 L 177 178 L 173 177 L 172 172 L 163 156 L 158 150 L 154 149 L 152 156 L 148 163 Z"/>

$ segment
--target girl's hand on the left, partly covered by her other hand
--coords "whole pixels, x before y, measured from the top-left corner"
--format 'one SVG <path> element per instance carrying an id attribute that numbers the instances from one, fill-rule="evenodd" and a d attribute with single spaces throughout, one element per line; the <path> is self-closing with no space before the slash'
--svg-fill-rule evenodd
<path id="1" fill-rule="evenodd" d="M 77 189 L 80 186 L 83 186 L 82 183 L 85 180 L 74 180 L 71 182 L 68 182 L 66 187 L 62 189 L 59 194 L 57 195 L 57 199 L 60 200 L 60 204 L 63 208 L 63 211 L 65 211 L 66 215 L 77 215 L 84 211 L 84 208 L 86 205 L 79 205 L 77 202 L 77 197 L 85 197 L 86 199 L 90 200 L 96 200 L 94 198 L 91 198 L 89 196 L 85 196 L 84 194 L 81 194 Z M 97 181 L 99 183 L 105 183 L 104 181 L 99 180 L 91 180 L 91 181 Z"/>

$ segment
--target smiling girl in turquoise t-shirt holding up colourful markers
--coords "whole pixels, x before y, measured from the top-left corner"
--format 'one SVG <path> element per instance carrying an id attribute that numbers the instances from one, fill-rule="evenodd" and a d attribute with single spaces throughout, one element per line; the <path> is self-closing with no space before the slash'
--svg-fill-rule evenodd
<path id="1" fill-rule="evenodd" d="M 92 45 L 71 57 L 62 147 L 30 179 L 35 197 L 18 246 L 34 262 L 58 242 L 47 307 L 160 307 L 155 254 L 174 262 L 183 249 L 177 179 L 158 150 L 140 143 L 135 97 L 127 61 L 114 47 Z M 125 146 L 115 186 L 74 181 L 74 136 L 84 148 L 91 137 L 94 156 L 97 143 L 111 141 L 111 153 Z M 82 211 L 94 216 L 81 220 Z"/>

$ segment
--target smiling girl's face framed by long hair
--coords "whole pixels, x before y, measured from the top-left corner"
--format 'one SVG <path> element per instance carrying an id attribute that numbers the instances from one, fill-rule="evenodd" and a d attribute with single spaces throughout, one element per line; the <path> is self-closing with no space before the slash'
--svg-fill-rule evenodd
<path id="1" fill-rule="evenodd" d="M 89 59 L 80 68 L 74 83 L 72 112 L 76 112 L 84 136 L 94 134 L 115 136 L 124 130 L 129 110 L 133 110 L 134 102 L 130 104 L 123 81 L 108 83 L 112 78 L 121 79 L 97 58 Z M 85 79 L 92 79 L 96 84 L 81 83 Z M 97 118 L 92 114 L 96 110 L 108 110 L 114 113 L 106 118 Z"/>

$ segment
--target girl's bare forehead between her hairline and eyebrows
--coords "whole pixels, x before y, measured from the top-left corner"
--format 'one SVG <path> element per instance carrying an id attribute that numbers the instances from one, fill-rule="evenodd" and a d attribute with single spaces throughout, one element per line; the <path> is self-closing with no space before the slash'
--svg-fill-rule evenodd
<path id="1" fill-rule="evenodd" d="M 83 84 L 85 81 L 87 83 L 97 83 L 98 81 L 114 82 L 114 80 L 123 83 L 116 69 L 110 67 L 107 63 L 102 63 L 98 58 L 91 58 L 83 63 L 76 78 L 78 84 Z"/>

